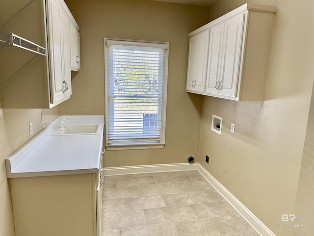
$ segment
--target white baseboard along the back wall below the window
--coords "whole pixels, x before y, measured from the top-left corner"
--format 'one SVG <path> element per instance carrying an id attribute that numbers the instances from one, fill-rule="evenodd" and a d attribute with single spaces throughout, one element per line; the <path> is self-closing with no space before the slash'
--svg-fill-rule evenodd
<path id="1" fill-rule="evenodd" d="M 143 166 L 122 166 L 103 168 L 105 176 L 128 175 L 164 171 L 193 171 L 198 170 L 198 163 L 175 163 Z"/>

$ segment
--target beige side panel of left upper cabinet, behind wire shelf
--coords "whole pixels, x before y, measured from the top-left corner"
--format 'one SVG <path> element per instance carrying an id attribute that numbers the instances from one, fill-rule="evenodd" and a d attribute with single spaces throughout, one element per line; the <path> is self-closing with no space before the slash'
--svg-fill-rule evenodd
<path id="1" fill-rule="evenodd" d="M 1 1 L 0 31 L 13 32 L 46 47 L 43 2 Z M 0 61 L 3 108 L 49 108 L 47 57 L 18 47 L 5 47 L 1 50 Z"/>

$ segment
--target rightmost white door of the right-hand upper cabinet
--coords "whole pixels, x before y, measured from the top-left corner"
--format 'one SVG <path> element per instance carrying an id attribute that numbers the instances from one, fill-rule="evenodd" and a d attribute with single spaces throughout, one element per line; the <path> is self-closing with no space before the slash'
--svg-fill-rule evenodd
<path id="1" fill-rule="evenodd" d="M 225 21 L 224 45 L 222 50 L 222 71 L 219 81 L 219 94 L 236 96 L 244 14 L 236 15 Z"/>

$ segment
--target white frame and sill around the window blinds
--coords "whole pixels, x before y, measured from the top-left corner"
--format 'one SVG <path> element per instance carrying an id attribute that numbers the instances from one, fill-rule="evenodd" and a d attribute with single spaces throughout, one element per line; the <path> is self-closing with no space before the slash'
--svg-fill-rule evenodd
<path id="1" fill-rule="evenodd" d="M 163 96 L 162 96 L 162 107 L 161 107 L 161 134 L 160 141 L 158 142 L 137 142 L 137 143 L 120 143 L 120 144 L 110 144 L 107 140 L 107 127 L 109 114 L 107 106 L 108 102 L 108 71 L 107 71 L 107 50 L 108 44 L 123 44 L 128 46 L 144 46 L 144 47 L 159 47 L 165 50 L 165 63 L 164 63 L 164 77 L 163 77 Z M 105 49 L 105 147 L 107 150 L 129 150 L 129 149 L 150 149 L 150 148 L 164 148 L 165 145 L 165 131 L 166 131 L 166 105 L 167 105 L 167 81 L 168 81 L 168 55 L 169 55 L 169 43 L 168 42 L 156 42 L 156 41 L 140 41 L 140 40 L 127 40 L 127 39 L 115 39 L 115 38 L 105 38 L 104 39 L 104 49 Z"/>

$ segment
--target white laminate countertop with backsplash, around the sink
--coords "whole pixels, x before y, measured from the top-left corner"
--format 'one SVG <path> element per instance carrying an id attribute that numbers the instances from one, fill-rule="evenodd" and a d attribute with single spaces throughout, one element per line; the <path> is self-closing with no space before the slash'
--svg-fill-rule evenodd
<path id="1" fill-rule="evenodd" d="M 52 135 L 62 118 L 29 140 L 5 160 L 8 178 L 98 173 L 104 134 L 104 116 L 78 116 L 67 124 L 97 123 L 100 132 L 84 135 Z M 76 116 L 70 116 L 70 118 Z"/>

